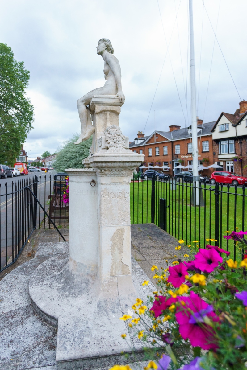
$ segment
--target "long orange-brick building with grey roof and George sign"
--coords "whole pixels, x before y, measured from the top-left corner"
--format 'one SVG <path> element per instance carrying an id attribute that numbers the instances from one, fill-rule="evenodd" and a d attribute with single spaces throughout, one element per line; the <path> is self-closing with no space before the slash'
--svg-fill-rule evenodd
<path id="1" fill-rule="evenodd" d="M 204 123 L 197 120 L 198 136 L 198 164 L 208 166 L 214 163 L 213 140 L 211 130 L 216 121 Z M 177 125 L 169 126 L 170 131 L 156 131 L 150 136 L 138 132 L 137 137 L 130 143 L 130 149 L 145 155 L 145 163 L 153 165 L 168 165 L 171 167 L 165 172 L 170 176 L 180 172 L 175 166 L 192 165 L 191 126 L 180 128 Z M 210 176 L 214 169 L 203 169 L 203 174 Z"/>

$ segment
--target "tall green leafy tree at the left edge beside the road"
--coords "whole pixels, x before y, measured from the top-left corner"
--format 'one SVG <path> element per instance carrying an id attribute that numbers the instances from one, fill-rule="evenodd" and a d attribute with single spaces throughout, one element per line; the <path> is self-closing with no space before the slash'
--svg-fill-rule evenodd
<path id="1" fill-rule="evenodd" d="M 34 108 L 25 96 L 29 71 L 14 59 L 13 51 L 0 43 L 0 162 L 13 165 L 21 145 L 33 128 Z"/>

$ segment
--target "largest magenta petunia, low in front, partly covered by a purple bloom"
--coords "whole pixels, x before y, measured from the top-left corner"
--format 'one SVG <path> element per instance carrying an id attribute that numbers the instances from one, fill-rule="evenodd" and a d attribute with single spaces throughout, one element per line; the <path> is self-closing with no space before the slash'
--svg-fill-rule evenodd
<path id="1" fill-rule="evenodd" d="M 189 297 L 178 297 L 178 300 L 185 303 L 184 310 L 175 314 L 182 338 L 184 340 L 188 338 L 191 346 L 199 346 L 205 350 L 217 348 L 213 329 L 205 324 L 203 319 L 204 316 L 208 316 L 213 321 L 219 320 L 212 312 L 212 307 L 194 292 L 190 292 Z"/>

